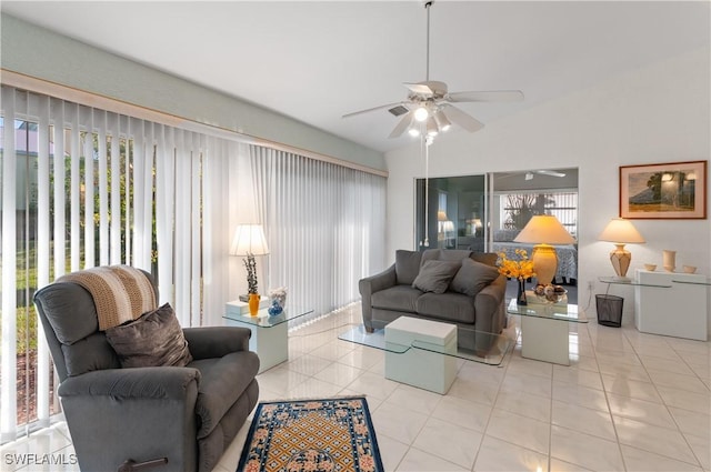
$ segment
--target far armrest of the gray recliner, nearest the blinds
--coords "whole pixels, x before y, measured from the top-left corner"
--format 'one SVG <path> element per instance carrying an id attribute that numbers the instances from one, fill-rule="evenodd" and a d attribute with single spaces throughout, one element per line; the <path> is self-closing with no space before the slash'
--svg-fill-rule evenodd
<path id="1" fill-rule="evenodd" d="M 252 332 L 241 327 L 183 328 L 194 360 L 222 358 L 230 352 L 249 351 Z"/>

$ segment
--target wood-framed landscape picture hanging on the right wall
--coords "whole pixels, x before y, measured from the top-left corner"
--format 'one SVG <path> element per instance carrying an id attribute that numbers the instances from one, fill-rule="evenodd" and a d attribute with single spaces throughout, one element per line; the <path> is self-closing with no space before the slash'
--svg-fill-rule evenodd
<path id="1" fill-rule="evenodd" d="M 708 161 L 620 167 L 620 217 L 704 220 Z"/>

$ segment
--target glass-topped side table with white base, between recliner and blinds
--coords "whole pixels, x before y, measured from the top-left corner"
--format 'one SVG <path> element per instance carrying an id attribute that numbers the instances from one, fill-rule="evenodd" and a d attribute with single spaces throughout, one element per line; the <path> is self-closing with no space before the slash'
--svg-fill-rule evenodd
<path id="1" fill-rule="evenodd" d="M 270 317 L 267 309 L 259 310 L 257 317 L 238 314 L 226 310 L 224 324 L 249 328 L 249 350 L 259 355 L 259 373 L 289 360 L 289 321 L 313 313 L 312 309 L 287 305 L 284 311 Z"/>

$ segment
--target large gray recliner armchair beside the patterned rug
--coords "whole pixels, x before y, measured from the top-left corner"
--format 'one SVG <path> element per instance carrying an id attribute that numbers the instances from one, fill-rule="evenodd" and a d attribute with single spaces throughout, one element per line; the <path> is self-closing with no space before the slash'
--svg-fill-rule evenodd
<path id="1" fill-rule="evenodd" d="M 34 303 L 83 471 L 211 471 L 257 404 L 248 329 L 183 329 L 186 366 L 121 368 L 81 284 L 60 279 Z"/>

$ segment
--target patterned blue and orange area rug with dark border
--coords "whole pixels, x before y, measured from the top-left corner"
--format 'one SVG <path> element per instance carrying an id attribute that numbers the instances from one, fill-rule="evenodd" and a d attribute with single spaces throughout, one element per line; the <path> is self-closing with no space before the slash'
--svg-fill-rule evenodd
<path id="1" fill-rule="evenodd" d="M 362 396 L 260 402 L 238 472 L 384 471 Z"/>

